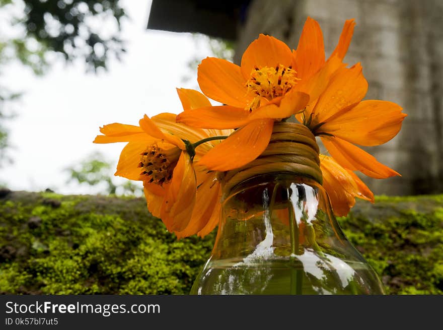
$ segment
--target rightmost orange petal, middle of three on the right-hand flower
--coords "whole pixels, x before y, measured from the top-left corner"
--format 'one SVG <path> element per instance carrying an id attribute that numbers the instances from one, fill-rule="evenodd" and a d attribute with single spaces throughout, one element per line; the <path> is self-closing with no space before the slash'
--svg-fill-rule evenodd
<path id="1" fill-rule="evenodd" d="M 378 146 L 399 132 L 406 117 L 401 110 L 399 105 L 388 101 L 362 101 L 329 118 L 317 134 L 326 132 L 361 146 Z"/>

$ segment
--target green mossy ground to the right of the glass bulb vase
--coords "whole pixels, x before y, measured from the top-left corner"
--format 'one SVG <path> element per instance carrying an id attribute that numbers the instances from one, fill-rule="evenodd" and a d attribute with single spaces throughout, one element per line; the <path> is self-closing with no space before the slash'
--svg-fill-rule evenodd
<path id="1" fill-rule="evenodd" d="M 443 294 L 441 201 L 441 195 L 383 196 L 376 201 L 377 211 L 364 206 L 339 219 L 388 293 Z"/>

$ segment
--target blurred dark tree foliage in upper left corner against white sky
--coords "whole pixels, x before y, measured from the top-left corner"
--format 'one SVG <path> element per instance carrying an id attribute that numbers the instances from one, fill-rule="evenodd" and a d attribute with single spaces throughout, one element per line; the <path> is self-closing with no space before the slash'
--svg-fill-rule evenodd
<path id="1" fill-rule="evenodd" d="M 53 54 L 66 62 L 85 61 L 87 70 L 106 69 L 110 57 L 125 51 L 120 38 L 126 16 L 119 0 L 0 0 L 0 75 L 13 60 L 41 75 Z M 12 115 L 8 102 L 19 97 L 0 85 L 0 165 L 6 159 Z"/>

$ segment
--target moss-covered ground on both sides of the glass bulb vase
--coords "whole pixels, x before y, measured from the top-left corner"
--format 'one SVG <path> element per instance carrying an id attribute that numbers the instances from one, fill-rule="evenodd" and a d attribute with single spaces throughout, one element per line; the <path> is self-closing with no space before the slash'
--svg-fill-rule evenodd
<path id="1" fill-rule="evenodd" d="M 443 195 L 381 196 L 339 222 L 388 293 L 443 293 Z M 143 199 L 10 192 L 0 293 L 187 294 L 214 236 L 177 240 Z"/>

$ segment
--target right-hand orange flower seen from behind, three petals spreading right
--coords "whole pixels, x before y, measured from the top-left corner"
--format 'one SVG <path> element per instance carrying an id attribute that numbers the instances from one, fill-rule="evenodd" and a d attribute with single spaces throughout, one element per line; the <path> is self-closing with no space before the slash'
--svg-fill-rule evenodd
<path id="1" fill-rule="evenodd" d="M 406 116 L 395 103 L 361 101 L 366 91 L 367 82 L 359 63 L 350 69 L 340 68 L 312 109 L 306 109 L 302 120 L 346 169 L 379 179 L 400 175 L 353 145 L 377 146 L 388 142 L 397 135 Z"/>

